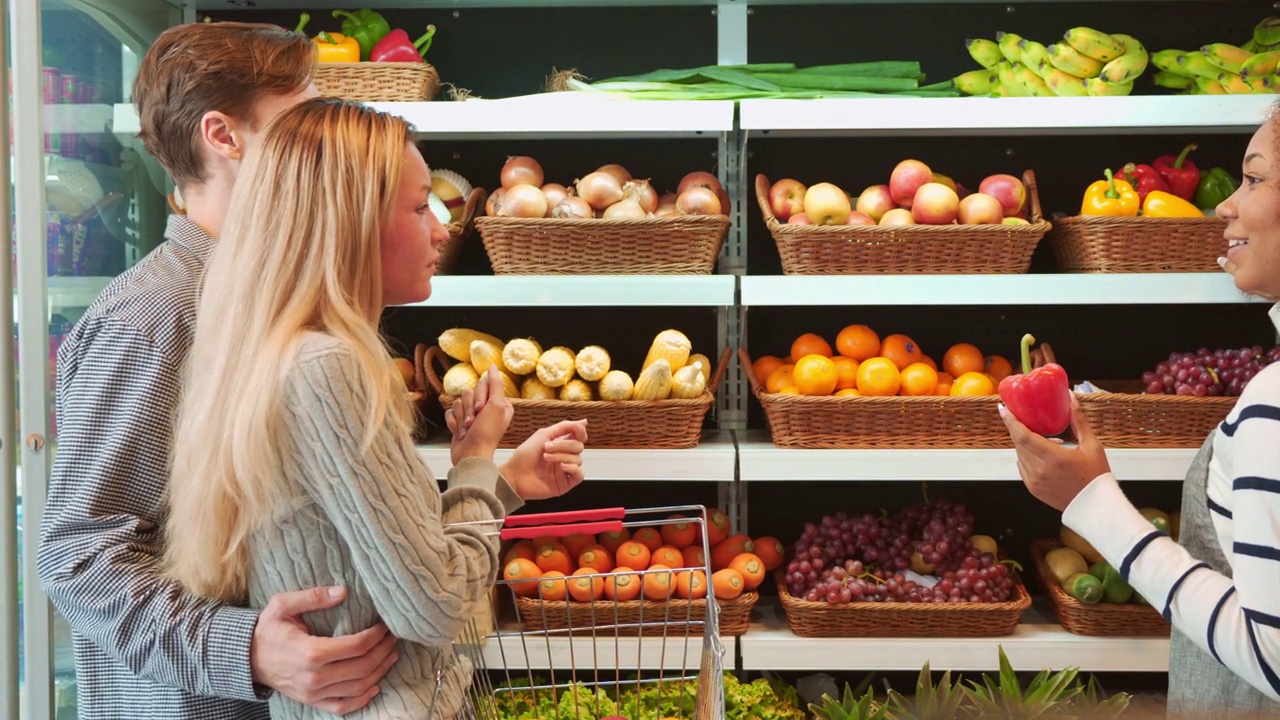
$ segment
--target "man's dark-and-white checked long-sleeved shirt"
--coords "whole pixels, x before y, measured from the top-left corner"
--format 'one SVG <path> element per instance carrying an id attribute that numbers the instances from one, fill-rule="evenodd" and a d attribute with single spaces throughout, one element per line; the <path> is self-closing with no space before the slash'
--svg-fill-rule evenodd
<path id="1" fill-rule="evenodd" d="M 160 577 L 169 448 L 214 240 L 182 215 L 58 351 L 41 588 L 72 626 L 81 720 L 268 717 L 257 612 Z"/>

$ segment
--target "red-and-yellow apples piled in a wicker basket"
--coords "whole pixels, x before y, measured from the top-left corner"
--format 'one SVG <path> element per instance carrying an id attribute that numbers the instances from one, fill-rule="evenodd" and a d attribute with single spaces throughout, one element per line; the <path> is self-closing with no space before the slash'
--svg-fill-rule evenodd
<path id="1" fill-rule="evenodd" d="M 836 184 L 783 178 L 769 186 L 769 210 L 791 225 L 1028 224 L 1028 190 L 1010 174 L 988 176 L 973 192 L 920 160 L 902 160 L 887 184 L 854 196 Z"/>

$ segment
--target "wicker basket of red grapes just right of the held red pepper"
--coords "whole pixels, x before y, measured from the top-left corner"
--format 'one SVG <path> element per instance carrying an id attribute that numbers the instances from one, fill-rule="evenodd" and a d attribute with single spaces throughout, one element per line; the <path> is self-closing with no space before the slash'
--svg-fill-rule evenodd
<path id="1" fill-rule="evenodd" d="M 1080 392 L 1075 397 L 1106 447 L 1199 447 L 1238 400 L 1146 395 L 1140 383 L 1124 380 L 1096 384 L 1116 392 Z"/>

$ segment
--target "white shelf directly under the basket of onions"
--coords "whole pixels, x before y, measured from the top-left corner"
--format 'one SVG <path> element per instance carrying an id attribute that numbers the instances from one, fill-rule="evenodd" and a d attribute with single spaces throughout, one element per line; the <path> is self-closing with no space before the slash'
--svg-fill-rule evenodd
<path id="1" fill-rule="evenodd" d="M 733 275 L 440 275 L 421 307 L 722 307 Z"/>

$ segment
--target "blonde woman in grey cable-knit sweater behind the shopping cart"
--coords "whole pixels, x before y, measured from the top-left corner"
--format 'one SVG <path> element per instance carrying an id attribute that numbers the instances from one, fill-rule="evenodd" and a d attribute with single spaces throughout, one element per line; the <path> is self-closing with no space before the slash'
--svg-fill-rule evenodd
<path id="1" fill-rule="evenodd" d="M 449 643 L 494 582 L 498 546 L 489 527 L 449 525 L 500 519 L 582 479 L 585 421 L 539 430 L 494 464 L 512 414 L 494 373 L 448 414 L 443 495 L 415 451 L 378 319 L 430 295 L 448 233 L 429 191 L 401 119 L 333 99 L 280 114 L 236 183 L 178 418 L 174 578 L 252 606 L 282 589 L 347 585 L 344 603 L 307 616 L 310 630 L 381 621 L 399 638 L 379 694 L 347 717 L 466 711 L 471 667 Z M 270 707 L 332 717 L 280 694 Z"/>

